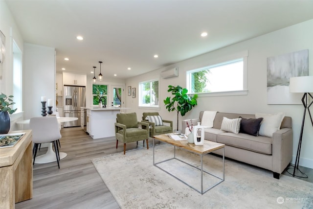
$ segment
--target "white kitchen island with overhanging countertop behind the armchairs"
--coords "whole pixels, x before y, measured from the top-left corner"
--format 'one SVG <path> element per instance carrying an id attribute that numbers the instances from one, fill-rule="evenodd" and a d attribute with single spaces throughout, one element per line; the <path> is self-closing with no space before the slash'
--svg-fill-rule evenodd
<path id="1" fill-rule="evenodd" d="M 114 137 L 116 114 L 120 113 L 122 109 L 127 108 L 81 107 L 82 111 L 86 110 L 86 132 L 92 139 Z"/>

